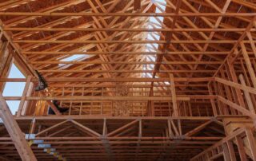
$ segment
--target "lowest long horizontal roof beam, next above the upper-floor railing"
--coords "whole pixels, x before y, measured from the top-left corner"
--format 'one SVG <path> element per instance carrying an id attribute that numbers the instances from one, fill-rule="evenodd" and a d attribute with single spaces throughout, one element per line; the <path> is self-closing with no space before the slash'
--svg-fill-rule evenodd
<path id="1" fill-rule="evenodd" d="M 38 81 L 33 78 L 32 81 Z M 170 82 L 169 78 L 86 78 L 86 77 L 46 77 L 47 82 Z M 214 77 L 174 77 L 178 82 L 214 81 Z M 0 82 L 26 82 L 26 78 L 0 78 Z"/>

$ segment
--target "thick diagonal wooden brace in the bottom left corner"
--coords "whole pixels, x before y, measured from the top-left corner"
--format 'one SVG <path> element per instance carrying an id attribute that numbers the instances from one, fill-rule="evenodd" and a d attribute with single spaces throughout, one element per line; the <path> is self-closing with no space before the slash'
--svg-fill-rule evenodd
<path id="1" fill-rule="evenodd" d="M 22 130 L 18 127 L 14 116 L 12 116 L 10 109 L 6 104 L 6 100 L 3 98 L 2 93 L 0 94 L 0 117 L 6 126 L 6 130 L 13 140 L 14 145 L 24 161 L 36 161 L 33 151 L 26 142 L 25 135 Z"/>

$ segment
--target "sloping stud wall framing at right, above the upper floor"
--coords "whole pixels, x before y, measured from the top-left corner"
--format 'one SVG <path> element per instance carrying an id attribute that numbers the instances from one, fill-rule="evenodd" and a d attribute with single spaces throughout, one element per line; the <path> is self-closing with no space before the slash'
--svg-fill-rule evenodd
<path id="1" fill-rule="evenodd" d="M 250 33 L 247 37 L 251 38 Z M 252 49 L 253 53 L 247 52 Z M 256 123 L 256 48 L 254 43 L 245 46 L 243 42 L 234 49 L 234 56 L 226 58 L 225 63 L 214 75 L 214 81 L 208 84 L 214 116 L 243 115 L 250 116 Z"/>

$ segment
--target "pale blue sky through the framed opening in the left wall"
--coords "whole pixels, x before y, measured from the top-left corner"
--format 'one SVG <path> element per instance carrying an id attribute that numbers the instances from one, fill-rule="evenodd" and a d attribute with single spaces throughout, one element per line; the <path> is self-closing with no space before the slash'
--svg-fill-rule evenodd
<path id="1" fill-rule="evenodd" d="M 25 78 L 24 75 L 18 70 L 16 65 L 12 65 L 8 78 Z M 22 92 L 25 88 L 25 82 L 7 82 L 3 90 L 3 96 L 22 96 Z M 14 115 L 18 110 L 19 100 L 7 100 L 6 101 L 10 111 Z"/>

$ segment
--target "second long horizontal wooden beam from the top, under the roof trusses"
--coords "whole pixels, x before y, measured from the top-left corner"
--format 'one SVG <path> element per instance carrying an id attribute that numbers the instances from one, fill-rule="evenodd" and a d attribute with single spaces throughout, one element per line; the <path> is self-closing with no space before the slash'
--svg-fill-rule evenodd
<path id="1" fill-rule="evenodd" d="M 129 31 L 129 32 L 244 32 L 246 28 L 225 28 L 225 29 L 214 29 L 214 28 L 201 28 L 201 29 L 133 29 L 133 28 L 45 28 L 45 27 L 34 27 L 34 28 L 25 28 L 25 27 L 4 27 L 5 31 Z M 250 31 L 255 31 L 256 29 L 250 29 Z"/>

